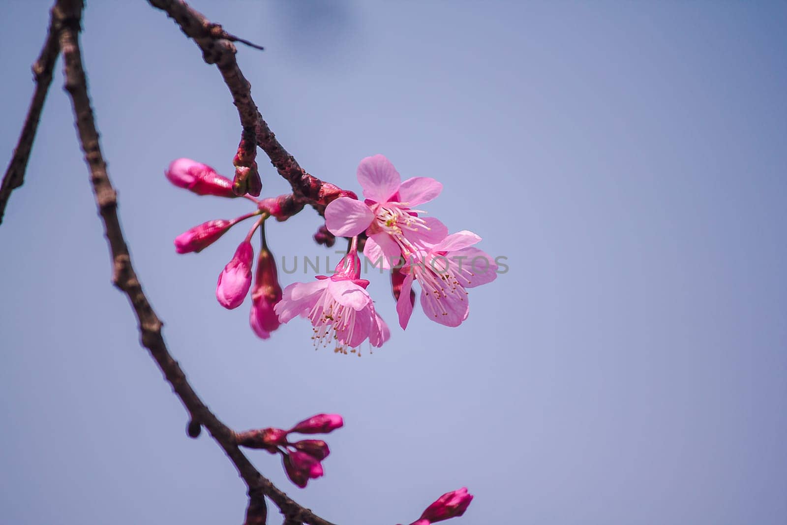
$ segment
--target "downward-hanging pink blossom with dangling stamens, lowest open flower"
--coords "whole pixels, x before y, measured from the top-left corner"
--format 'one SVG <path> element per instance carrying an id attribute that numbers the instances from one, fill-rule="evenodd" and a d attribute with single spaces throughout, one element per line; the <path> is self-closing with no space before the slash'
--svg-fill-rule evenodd
<path id="1" fill-rule="evenodd" d="M 357 348 L 368 338 L 371 346 L 379 347 L 390 338 L 388 325 L 375 312 L 374 301 L 366 291 L 368 280 L 360 279 L 357 238 L 334 275 L 317 275 L 317 279 L 284 289 L 282 300 L 274 308 L 279 321 L 308 317 L 316 346 L 335 341 L 337 349 Z"/>

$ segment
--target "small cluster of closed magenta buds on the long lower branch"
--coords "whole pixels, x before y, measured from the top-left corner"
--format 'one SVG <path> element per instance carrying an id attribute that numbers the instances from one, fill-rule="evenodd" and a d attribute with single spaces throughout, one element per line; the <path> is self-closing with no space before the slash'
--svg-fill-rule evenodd
<path id="1" fill-rule="evenodd" d="M 297 423 L 290 430 L 263 428 L 237 434 L 236 439 L 240 446 L 281 454 L 287 477 L 302 489 L 309 479 L 323 475 L 321 462 L 331 453 L 331 449 L 322 439 L 290 442 L 290 434 L 327 434 L 343 425 L 342 416 L 338 414 L 317 414 Z"/>

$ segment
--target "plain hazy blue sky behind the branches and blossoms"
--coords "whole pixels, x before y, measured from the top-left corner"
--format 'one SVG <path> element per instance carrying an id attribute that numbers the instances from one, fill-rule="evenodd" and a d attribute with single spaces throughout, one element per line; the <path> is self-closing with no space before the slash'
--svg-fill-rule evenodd
<path id="1" fill-rule="evenodd" d="M 199 255 L 172 238 L 245 213 L 162 172 L 231 173 L 238 116 L 216 68 L 142 0 L 89 2 L 102 148 L 135 267 L 194 387 L 236 429 L 338 412 L 334 522 L 409 523 L 447 490 L 461 522 L 787 522 L 787 6 L 783 2 L 209 2 L 266 46 L 238 61 L 309 172 L 359 190 L 362 157 L 433 176 L 428 205 L 510 270 L 456 329 L 416 312 L 360 359 L 305 321 L 268 342 L 214 298 L 246 231 Z M 6 0 L 5 158 L 50 2 Z M 241 523 L 242 482 L 139 346 L 109 283 L 61 63 L 24 187 L 0 226 L 0 522 Z M 261 153 L 260 153 L 261 155 Z M 264 194 L 286 191 L 260 161 Z M 315 213 L 268 228 L 316 246 Z M 283 284 L 309 275 L 283 275 Z M 369 290 L 392 326 L 387 280 Z M 300 322 L 299 322 L 300 321 Z M 272 517 L 270 523 L 279 523 Z"/>

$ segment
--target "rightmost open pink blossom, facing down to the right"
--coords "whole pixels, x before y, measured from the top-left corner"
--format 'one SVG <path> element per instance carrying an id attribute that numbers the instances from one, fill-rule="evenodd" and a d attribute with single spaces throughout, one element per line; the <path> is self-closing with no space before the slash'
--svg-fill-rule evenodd
<path id="1" fill-rule="evenodd" d="M 467 319 L 467 288 L 490 283 L 497 277 L 497 264 L 492 257 L 472 247 L 480 240 L 472 231 L 460 231 L 408 254 L 406 265 L 400 270 L 405 279 L 396 307 L 402 329 L 412 316 L 410 292 L 416 279 L 421 285 L 421 308 L 430 320 L 458 327 Z"/>

